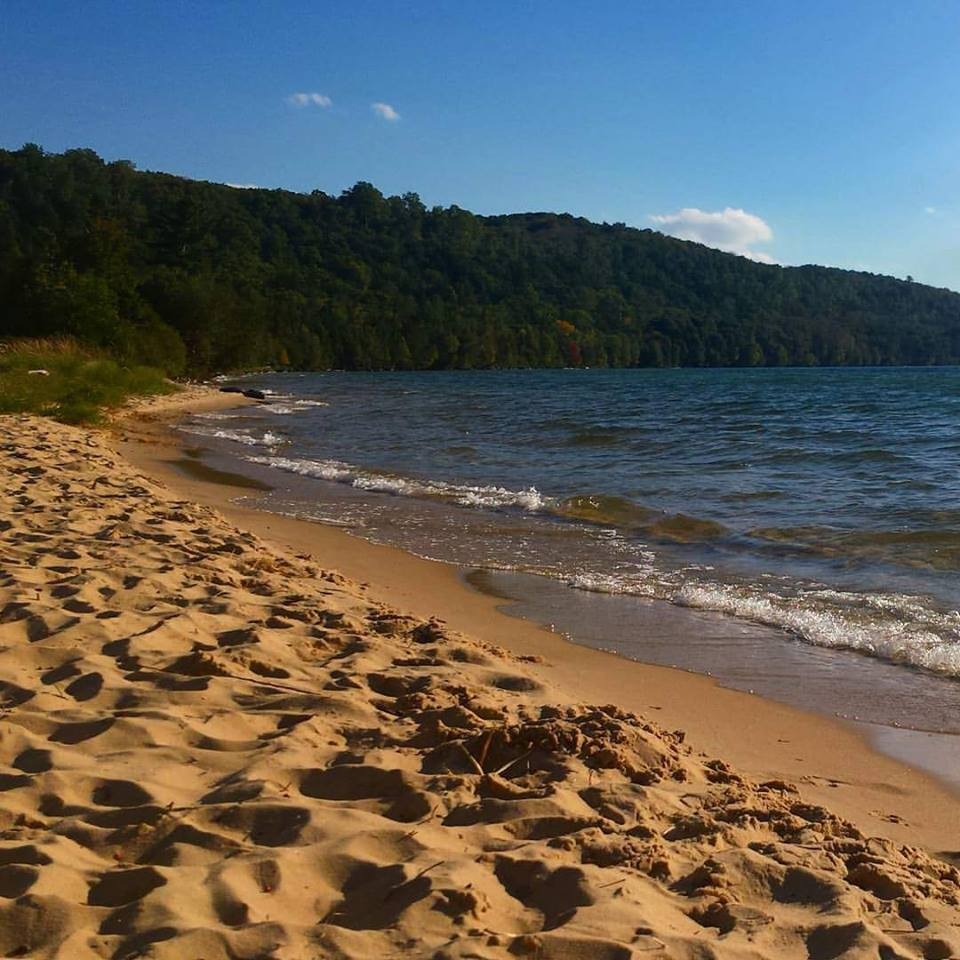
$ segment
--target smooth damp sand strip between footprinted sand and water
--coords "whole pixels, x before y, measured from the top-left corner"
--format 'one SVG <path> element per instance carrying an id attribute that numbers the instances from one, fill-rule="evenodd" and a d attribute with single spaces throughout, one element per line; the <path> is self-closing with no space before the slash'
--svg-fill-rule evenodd
<path id="1" fill-rule="evenodd" d="M 868 832 L 957 856 L 960 786 L 903 756 L 914 745 L 909 742 L 913 731 L 882 728 L 886 749 L 881 752 L 870 724 L 746 693 L 683 668 L 579 644 L 546 625 L 508 613 L 504 607 L 509 601 L 469 583 L 472 568 L 370 543 L 333 524 L 237 504 L 236 498 L 253 491 L 231 486 L 229 475 L 212 480 L 187 476 L 175 462 L 192 445 L 171 429 L 174 420 L 200 410 L 240 405 L 235 394 L 208 395 L 200 402 L 198 407 L 197 399 L 183 398 L 163 411 L 151 411 L 147 420 L 138 414 L 123 420 L 121 454 L 138 469 L 264 540 L 316 555 L 321 563 L 335 557 L 332 566 L 364 583 L 381 602 L 415 616 L 437 616 L 454 630 L 540 659 L 551 683 L 575 692 L 578 699 L 613 702 L 655 717 L 682 729 L 696 749 L 723 757 L 751 777 L 797 783 L 805 799 L 829 806 Z M 960 738 L 950 742 L 954 739 L 960 751 Z"/>

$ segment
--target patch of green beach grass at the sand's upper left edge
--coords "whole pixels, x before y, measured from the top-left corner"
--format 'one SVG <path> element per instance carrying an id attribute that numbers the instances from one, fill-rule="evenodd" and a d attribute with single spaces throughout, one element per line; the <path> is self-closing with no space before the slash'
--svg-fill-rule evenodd
<path id="1" fill-rule="evenodd" d="M 175 389 L 160 370 L 125 366 L 66 337 L 0 341 L 0 413 L 97 423 L 129 397 Z"/>

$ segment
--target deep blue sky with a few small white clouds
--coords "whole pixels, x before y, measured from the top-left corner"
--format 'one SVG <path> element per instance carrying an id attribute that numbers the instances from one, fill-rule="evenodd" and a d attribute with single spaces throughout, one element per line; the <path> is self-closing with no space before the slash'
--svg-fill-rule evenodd
<path id="1" fill-rule="evenodd" d="M 0 93 L 5 147 L 960 289 L 956 0 L 4 0 Z"/>

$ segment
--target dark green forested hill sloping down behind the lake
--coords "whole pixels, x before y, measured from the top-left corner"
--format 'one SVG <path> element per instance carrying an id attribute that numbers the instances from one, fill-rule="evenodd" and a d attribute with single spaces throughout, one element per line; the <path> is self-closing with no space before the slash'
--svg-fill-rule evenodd
<path id="1" fill-rule="evenodd" d="M 960 362 L 960 295 L 623 224 L 0 151 L 0 335 L 172 373 Z"/>

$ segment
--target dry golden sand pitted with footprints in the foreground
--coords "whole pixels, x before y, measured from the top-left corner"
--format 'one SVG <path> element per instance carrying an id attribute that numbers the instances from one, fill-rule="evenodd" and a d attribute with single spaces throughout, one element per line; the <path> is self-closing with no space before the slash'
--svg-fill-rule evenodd
<path id="1" fill-rule="evenodd" d="M 946 958 L 960 876 L 0 419 L 0 954 Z M 335 563 L 335 558 L 333 560 Z"/>

